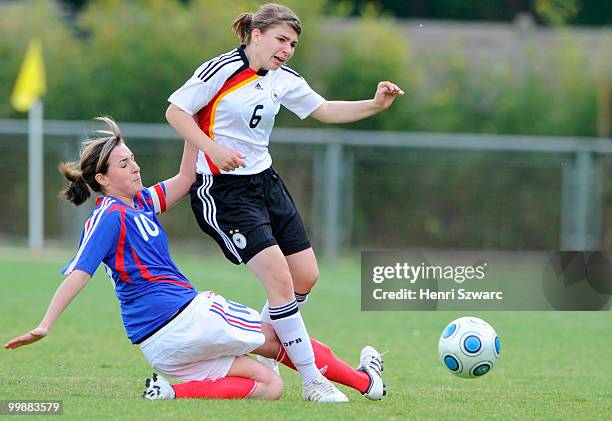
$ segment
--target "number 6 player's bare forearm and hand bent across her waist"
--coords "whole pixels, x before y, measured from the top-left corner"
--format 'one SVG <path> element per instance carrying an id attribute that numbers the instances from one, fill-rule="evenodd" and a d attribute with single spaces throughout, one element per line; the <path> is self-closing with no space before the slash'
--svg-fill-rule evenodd
<path id="1" fill-rule="evenodd" d="M 166 120 L 179 135 L 199 150 L 205 152 L 213 163 L 223 171 L 233 171 L 238 167 L 246 167 L 246 158 L 239 152 L 217 145 L 198 127 L 185 111 L 174 104 L 166 110 Z"/>

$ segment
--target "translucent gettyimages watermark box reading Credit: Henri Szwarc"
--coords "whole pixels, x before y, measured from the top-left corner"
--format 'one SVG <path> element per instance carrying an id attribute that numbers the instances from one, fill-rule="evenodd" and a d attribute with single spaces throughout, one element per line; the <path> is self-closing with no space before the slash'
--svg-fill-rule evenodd
<path id="1" fill-rule="evenodd" d="M 603 252 L 364 251 L 362 310 L 607 310 Z"/>

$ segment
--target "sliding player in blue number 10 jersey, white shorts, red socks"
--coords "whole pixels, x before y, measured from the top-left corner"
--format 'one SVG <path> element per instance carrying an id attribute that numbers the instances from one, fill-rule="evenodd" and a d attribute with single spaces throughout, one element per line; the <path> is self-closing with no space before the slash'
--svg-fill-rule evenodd
<path id="1" fill-rule="evenodd" d="M 64 268 L 67 278 L 55 293 L 37 328 L 4 345 L 7 349 L 45 337 L 55 320 L 103 263 L 115 286 L 123 325 L 151 365 L 182 383 L 162 376 L 147 379 L 144 397 L 277 399 L 282 381 L 269 367 L 246 357 L 251 351 L 292 367 L 274 331 L 261 325 L 257 311 L 211 291 L 198 293 L 176 267 L 168 239 L 156 215 L 183 198 L 195 180 L 196 149 L 185 144 L 179 173 L 143 188 L 140 168 L 110 118 L 98 118 L 107 136 L 83 143 L 80 162 L 60 169 L 70 181 L 67 200 L 80 205 L 90 189 L 100 197 L 81 235 L 76 256 Z M 313 341 L 325 376 L 350 386 L 368 399 L 384 394 L 382 359 L 372 347 L 361 352 L 353 369 L 331 350 Z M 305 389 L 303 398 L 342 402 L 346 397 L 327 379 Z"/>

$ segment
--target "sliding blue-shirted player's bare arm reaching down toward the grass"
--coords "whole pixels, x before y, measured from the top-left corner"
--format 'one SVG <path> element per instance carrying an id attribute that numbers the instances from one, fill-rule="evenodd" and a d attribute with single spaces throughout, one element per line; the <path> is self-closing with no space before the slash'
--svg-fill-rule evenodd
<path id="1" fill-rule="evenodd" d="M 87 285 L 89 279 L 89 274 L 81 270 L 75 270 L 68 275 L 68 277 L 64 279 L 64 282 L 62 282 L 62 284 L 55 291 L 55 295 L 51 299 L 47 313 L 39 323 L 38 327 L 29 331 L 25 335 L 17 336 L 16 338 L 8 341 L 6 344 L 4 344 L 4 348 L 19 348 L 20 346 L 37 342 L 47 336 L 47 333 L 49 330 L 51 330 L 51 327 L 53 327 L 53 323 L 55 323 L 60 314 L 62 314 L 66 307 L 68 307 L 68 305 L 72 302 L 72 299 L 76 297 L 79 292 L 81 292 L 85 285 Z"/>

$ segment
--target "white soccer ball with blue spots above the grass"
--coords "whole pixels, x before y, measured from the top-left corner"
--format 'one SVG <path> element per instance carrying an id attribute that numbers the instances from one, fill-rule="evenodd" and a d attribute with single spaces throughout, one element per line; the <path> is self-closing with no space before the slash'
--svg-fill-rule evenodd
<path id="1" fill-rule="evenodd" d="M 499 358 L 499 336 L 490 324 L 477 317 L 461 317 L 446 326 L 438 353 L 451 373 L 464 379 L 487 374 Z"/>

